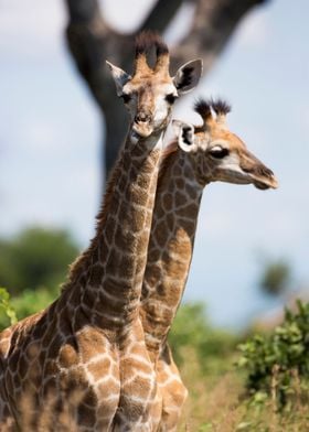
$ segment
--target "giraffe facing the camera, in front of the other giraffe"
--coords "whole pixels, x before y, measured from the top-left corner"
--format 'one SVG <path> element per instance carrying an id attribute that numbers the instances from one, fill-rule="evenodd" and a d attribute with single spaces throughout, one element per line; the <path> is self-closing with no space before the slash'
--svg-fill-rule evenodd
<path id="1" fill-rule="evenodd" d="M 150 67 L 152 48 L 157 60 Z M 0 335 L 3 430 L 13 422 L 22 430 L 44 431 L 156 426 L 150 415 L 156 374 L 139 301 L 162 138 L 173 100 L 196 85 L 202 64 L 189 62 L 171 77 L 168 47 L 152 33 L 137 39 L 132 76 L 107 64 L 130 114 L 128 136 L 96 235 L 73 263 L 60 298 Z"/>

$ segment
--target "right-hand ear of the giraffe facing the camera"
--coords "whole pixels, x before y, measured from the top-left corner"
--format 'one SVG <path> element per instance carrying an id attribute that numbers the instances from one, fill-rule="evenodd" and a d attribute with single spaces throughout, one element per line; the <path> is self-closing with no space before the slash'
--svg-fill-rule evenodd
<path id="1" fill-rule="evenodd" d="M 188 62 L 181 66 L 173 77 L 173 84 L 178 94 L 183 95 L 196 87 L 201 78 L 202 71 L 203 62 L 200 58 Z"/>

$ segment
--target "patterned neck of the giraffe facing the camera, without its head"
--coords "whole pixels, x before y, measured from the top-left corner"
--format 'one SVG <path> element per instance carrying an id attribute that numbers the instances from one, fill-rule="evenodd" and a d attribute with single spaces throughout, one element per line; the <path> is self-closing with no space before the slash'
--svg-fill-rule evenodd
<path id="1" fill-rule="evenodd" d="M 97 233 L 73 266 L 68 302 L 89 324 L 121 331 L 138 316 L 162 132 L 129 136 L 111 174 Z M 64 290 L 67 291 L 67 288 Z"/>

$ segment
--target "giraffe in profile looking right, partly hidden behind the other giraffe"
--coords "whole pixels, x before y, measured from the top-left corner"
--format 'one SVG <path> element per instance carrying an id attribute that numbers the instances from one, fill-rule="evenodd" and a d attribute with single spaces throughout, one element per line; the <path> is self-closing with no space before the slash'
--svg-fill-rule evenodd
<path id="1" fill-rule="evenodd" d="M 173 121 L 178 142 L 166 150 L 160 168 L 140 315 L 146 345 L 157 365 L 163 398 L 161 431 L 174 431 L 187 398 L 167 336 L 185 287 L 204 187 L 214 181 L 277 187 L 273 172 L 226 126 L 231 107 L 201 99 L 202 126 Z"/>

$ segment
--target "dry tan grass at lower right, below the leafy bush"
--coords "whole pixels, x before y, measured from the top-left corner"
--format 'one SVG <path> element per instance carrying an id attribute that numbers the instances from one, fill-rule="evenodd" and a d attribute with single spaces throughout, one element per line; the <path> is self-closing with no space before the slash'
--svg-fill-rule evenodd
<path id="1" fill-rule="evenodd" d="M 278 410 L 274 398 L 258 401 L 247 397 L 245 376 L 235 369 L 238 356 L 217 358 L 216 372 L 204 374 L 194 352 L 185 349 L 181 376 L 189 390 L 179 431 L 198 432 L 307 432 L 308 404 L 301 399 Z M 222 372 L 221 372 L 222 370 Z"/>

